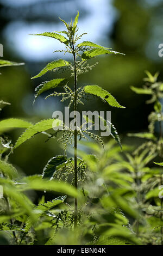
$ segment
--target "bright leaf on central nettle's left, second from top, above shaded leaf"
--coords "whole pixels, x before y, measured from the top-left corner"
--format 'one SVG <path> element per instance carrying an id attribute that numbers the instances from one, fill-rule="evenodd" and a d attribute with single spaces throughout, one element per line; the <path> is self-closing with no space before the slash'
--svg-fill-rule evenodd
<path id="1" fill-rule="evenodd" d="M 57 59 L 57 60 L 54 60 L 53 62 L 49 62 L 46 67 L 44 69 L 41 70 L 41 72 L 32 77 L 31 79 L 33 78 L 37 78 L 37 77 L 40 77 L 40 76 L 43 76 L 45 75 L 48 71 L 52 71 L 53 69 L 56 69 L 56 68 L 60 68 L 61 66 L 68 66 L 70 65 L 70 62 L 67 62 L 66 60 L 64 59 Z"/>

